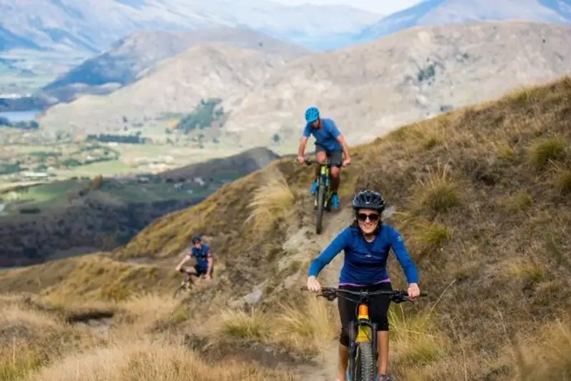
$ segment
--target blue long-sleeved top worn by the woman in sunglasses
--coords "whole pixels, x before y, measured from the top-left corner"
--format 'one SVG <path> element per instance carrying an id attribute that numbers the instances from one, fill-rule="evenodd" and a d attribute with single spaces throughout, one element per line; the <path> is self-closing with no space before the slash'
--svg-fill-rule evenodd
<path id="1" fill-rule="evenodd" d="M 408 283 L 418 283 L 418 272 L 408 255 L 403 237 L 390 225 L 383 224 L 373 242 L 367 242 L 359 228 L 349 226 L 315 258 L 309 266 L 308 276 L 317 276 L 335 255 L 345 250 L 345 263 L 341 269 L 339 283 L 372 285 L 388 280 L 387 259 L 393 249 Z"/>

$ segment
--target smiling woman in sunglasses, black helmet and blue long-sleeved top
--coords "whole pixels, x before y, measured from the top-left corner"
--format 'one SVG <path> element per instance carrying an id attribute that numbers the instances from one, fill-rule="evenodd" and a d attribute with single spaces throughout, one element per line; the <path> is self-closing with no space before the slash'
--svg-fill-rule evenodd
<path id="1" fill-rule="evenodd" d="M 403 237 L 395 228 L 381 220 L 385 209 L 383 195 L 375 191 L 360 191 L 353 198 L 355 220 L 345 228 L 323 250 L 318 258 L 310 264 L 308 272 L 308 289 L 318 293 L 321 285 L 317 276 L 341 250 L 345 251 L 345 264 L 341 269 L 339 288 L 345 290 L 392 290 L 387 272 L 387 259 L 390 249 L 403 268 L 408 280 L 408 296 L 411 299 L 420 296 L 418 288 L 418 272 L 408 255 Z M 370 297 L 370 320 L 378 325 L 378 380 L 388 381 L 388 308 L 390 300 L 384 295 Z M 339 378 L 347 381 L 347 365 L 349 357 L 349 322 L 356 321 L 357 304 L 344 298 L 338 299 L 341 320 L 339 347 Z"/>

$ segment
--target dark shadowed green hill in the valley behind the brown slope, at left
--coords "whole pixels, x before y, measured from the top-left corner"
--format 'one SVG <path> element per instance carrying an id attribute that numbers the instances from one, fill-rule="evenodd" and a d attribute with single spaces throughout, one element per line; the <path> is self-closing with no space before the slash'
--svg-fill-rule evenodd
<path id="1" fill-rule="evenodd" d="M 0 193 L 0 268 L 111 250 L 161 215 L 268 166 L 266 148 L 139 178 L 59 181 Z M 4 199 L 4 200 L 3 200 Z"/>

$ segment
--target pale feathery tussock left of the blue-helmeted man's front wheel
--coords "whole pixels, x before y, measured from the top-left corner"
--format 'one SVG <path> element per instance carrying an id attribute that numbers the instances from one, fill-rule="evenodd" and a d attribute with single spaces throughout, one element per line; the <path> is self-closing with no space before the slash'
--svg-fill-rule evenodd
<path id="1" fill-rule="evenodd" d="M 268 177 L 268 182 L 254 191 L 248 204 L 251 213 L 245 222 L 253 221 L 258 230 L 273 228 L 276 220 L 291 213 L 295 200 L 295 194 L 281 172 L 275 171 Z"/>

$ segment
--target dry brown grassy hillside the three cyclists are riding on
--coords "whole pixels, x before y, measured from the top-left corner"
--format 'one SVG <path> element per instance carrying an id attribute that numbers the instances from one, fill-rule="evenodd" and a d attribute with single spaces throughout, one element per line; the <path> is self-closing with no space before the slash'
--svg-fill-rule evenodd
<path id="1" fill-rule="evenodd" d="M 1 273 L 0 290 L 37 294 L 4 302 L 19 311 L 3 315 L 11 317 L 4 322 L 14 327 L 11 340 L 27 351 L 14 355 L 5 345 L 13 360 L 3 369 L 24 380 L 81 381 L 96 372 L 122 381 L 138 372 L 145 381 L 211 381 L 246 379 L 244 366 L 253 364 L 259 370 L 249 380 L 280 377 L 265 372 L 330 380 L 335 306 L 303 298 L 298 285 L 308 262 L 350 223 L 350 195 L 367 186 L 395 210 L 385 219 L 403 232 L 431 295 L 416 308 L 391 310 L 391 372 L 399 380 L 569 380 L 570 97 L 571 78 L 561 78 L 353 147 L 343 208 L 326 216 L 320 236 L 308 195 L 312 170 L 288 158 L 156 220 L 114 253 Z M 183 301 L 159 297 L 172 292 L 178 278 L 170 269 L 196 233 L 216 256 L 213 286 L 197 285 Z M 394 258 L 389 266 L 402 287 Z M 327 284 L 336 278 L 334 270 L 323 274 Z M 66 317 L 87 324 L 64 331 Z M 76 339 L 46 352 L 54 339 L 40 332 Z M 133 341 L 153 355 L 134 350 Z M 110 351 L 132 355 L 101 366 L 108 357 L 100 354 Z M 192 352 L 216 359 L 213 374 L 193 360 L 171 377 L 165 358 L 178 365 Z M 26 358 L 49 363 L 26 365 Z M 39 374 L 27 377 L 32 366 Z"/>

